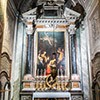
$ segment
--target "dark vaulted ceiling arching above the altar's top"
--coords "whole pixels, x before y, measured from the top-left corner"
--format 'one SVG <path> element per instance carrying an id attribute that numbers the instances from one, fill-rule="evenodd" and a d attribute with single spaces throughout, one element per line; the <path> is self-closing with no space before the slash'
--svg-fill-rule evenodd
<path id="1" fill-rule="evenodd" d="M 83 7 L 78 1 L 82 0 L 13 0 L 17 10 L 21 13 L 27 12 L 35 7 L 38 7 L 43 2 L 55 1 L 56 3 L 63 3 L 64 7 L 73 9 L 79 13 L 82 13 Z M 77 4 L 75 6 L 75 3 Z"/>

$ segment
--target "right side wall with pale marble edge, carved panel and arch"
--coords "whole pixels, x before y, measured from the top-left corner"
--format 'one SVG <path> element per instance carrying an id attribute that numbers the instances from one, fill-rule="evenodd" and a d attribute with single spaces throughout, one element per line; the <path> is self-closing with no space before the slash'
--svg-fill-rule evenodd
<path id="1" fill-rule="evenodd" d="M 91 95 L 90 100 L 92 100 L 94 97 L 92 96 L 94 94 L 92 94 L 93 80 L 96 73 L 100 70 L 100 1 L 92 0 L 86 8 L 86 13 L 85 32 L 87 36 L 88 75 Z"/>

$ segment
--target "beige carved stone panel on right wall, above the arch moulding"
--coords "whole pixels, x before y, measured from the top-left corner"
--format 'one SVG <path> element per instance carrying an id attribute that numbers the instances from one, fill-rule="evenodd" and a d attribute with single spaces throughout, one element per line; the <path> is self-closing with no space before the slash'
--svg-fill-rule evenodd
<path id="1" fill-rule="evenodd" d="M 96 2 L 91 9 L 92 11 L 89 11 L 91 13 L 88 14 L 88 19 L 90 25 L 91 57 L 93 58 L 97 52 L 100 52 L 100 4 Z"/>

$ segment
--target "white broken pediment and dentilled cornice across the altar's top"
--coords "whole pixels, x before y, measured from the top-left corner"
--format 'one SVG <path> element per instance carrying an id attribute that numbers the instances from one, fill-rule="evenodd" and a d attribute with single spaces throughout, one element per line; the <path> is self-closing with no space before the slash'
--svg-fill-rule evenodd
<path id="1" fill-rule="evenodd" d="M 51 8 L 49 8 L 48 11 L 50 9 Z M 27 25 L 26 29 L 28 30 L 29 34 L 33 33 L 33 21 L 36 24 L 36 28 L 38 28 L 41 25 L 42 25 L 42 27 L 45 26 L 45 28 L 53 28 L 53 29 L 58 28 L 59 25 L 63 25 L 64 27 L 62 27 L 62 28 L 66 28 L 65 26 L 69 26 L 70 24 L 74 24 L 75 21 L 80 16 L 79 13 L 66 7 L 65 12 L 62 13 L 62 15 L 58 15 L 60 17 L 49 18 L 49 17 L 42 16 L 42 18 L 36 19 L 36 11 L 37 11 L 37 8 L 34 8 L 34 9 L 22 14 L 23 22 L 25 22 L 25 24 Z M 59 11 L 59 12 L 61 13 L 61 11 Z"/>

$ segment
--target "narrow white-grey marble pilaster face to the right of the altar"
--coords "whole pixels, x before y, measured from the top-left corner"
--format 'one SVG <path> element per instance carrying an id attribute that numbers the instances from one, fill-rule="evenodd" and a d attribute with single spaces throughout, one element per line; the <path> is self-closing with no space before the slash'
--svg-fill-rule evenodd
<path id="1" fill-rule="evenodd" d="M 81 82 L 84 92 L 84 100 L 90 100 L 89 96 L 89 66 L 88 66 L 88 50 L 86 29 L 80 27 L 80 43 L 81 43 Z"/>

